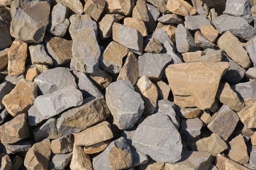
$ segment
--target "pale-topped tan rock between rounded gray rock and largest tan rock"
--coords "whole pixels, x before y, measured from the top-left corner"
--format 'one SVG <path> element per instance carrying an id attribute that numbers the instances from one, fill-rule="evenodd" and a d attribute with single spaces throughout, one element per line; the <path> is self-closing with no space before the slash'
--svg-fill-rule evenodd
<path id="1" fill-rule="evenodd" d="M 136 91 L 141 95 L 145 109 L 144 113 L 153 114 L 157 108 L 158 88 L 152 83 L 147 76 L 138 79 Z"/>

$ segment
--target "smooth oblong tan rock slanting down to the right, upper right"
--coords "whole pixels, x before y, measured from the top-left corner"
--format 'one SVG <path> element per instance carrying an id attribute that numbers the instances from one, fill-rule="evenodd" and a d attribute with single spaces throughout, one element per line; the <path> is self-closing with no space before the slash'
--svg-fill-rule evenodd
<path id="1" fill-rule="evenodd" d="M 247 51 L 244 50 L 241 42 L 229 31 L 225 32 L 218 38 L 218 47 L 224 50 L 228 56 L 243 68 L 251 65 Z"/>

